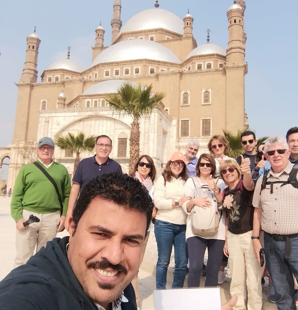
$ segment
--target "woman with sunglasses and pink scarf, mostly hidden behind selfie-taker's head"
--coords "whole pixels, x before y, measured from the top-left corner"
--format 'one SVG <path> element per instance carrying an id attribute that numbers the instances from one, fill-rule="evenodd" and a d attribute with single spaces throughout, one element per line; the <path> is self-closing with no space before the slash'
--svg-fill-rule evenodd
<path id="1" fill-rule="evenodd" d="M 153 163 L 153 159 L 148 155 L 141 155 L 137 160 L 136 163 L 131 171 L 130 174 L 133 178 L 138 179 L 148 190 L 150 196 L 153 195 L 153 185 L 156 178 L 156 169 Z M 154 217 L 154 216 L 153 216 Z M 143 261 L 146 245 L 149 238 L 149 233 L 151 230 L 151 225 L 148 228 L 147 236 L 144 241 L 144 247 L 141 255 L 140 264 Z M 135 290 L 136 294 L 136 303 L 137 306 L 140 306 L 140 294 L 138 290 L 138 275 L 134 277 L 131 281 L 131 284 Z"/>

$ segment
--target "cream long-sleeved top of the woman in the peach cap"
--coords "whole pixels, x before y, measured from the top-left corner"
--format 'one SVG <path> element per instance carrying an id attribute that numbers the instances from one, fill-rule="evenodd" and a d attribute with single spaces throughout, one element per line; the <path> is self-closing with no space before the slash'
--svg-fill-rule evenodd
<path id="1" fill-rule="evenodd" d="M 172 208 L 172 200 L 179 200 L 183 196 L 185 180 L 172 177 L 171 182 L 166 182 L 160 175 L 154 182 L 153 202 L 158 209 L 155 219 L 172 224 L 185 225 L 187 215 L 181 207 Z"/>

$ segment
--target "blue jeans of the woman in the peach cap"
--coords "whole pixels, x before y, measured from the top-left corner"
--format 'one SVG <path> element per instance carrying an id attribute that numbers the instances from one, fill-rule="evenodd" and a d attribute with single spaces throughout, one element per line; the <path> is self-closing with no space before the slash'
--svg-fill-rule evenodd
<path id="1" fill-rule="evenodd" d="M 156 264 L 156 288 L 164 289 L 167 284 L 167 270 L 172 247 L 175 251 L 175 270 L 172 288 L 183 287 L 186 276 L 187 259 L 185 255 L 186 225 L 172 224 L 156 219 L 154 234 L 157 243 L 158 260 Z"/>

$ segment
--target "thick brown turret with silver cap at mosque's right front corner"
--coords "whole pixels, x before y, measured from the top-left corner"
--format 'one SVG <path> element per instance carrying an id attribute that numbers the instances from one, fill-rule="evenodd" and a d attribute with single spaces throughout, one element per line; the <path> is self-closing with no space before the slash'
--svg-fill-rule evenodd
<path id="1" fill-rule="evenodd" d="M 245 3 L 245 2 L 244 2 Z M 227 65 L 244 64 L 245 41 L 243 41 L 243 9 L 234 1 L 227 12 L 229 23 L 229 43 L 227 48 Z M 245 35 L 246 40 L 246 35 Z"/>

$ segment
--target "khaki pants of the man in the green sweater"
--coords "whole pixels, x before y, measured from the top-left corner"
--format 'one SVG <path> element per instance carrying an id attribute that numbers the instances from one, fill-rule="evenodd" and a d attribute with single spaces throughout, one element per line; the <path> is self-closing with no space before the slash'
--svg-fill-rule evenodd
<path id="1" fill-rule="evenodd" d="M 55 238 L 60 224 L 60 211 L 40 214 L 23 210 L 25 220 L 29 219 L 30 214 L 37 216 L 40 222 L 30 224 L 25 230 L 16 230 L 15 267 L 27 263 L 34 253 L 35 246 L 37 252 L 42 246 L 46 246 L 47 241 Z"/>

